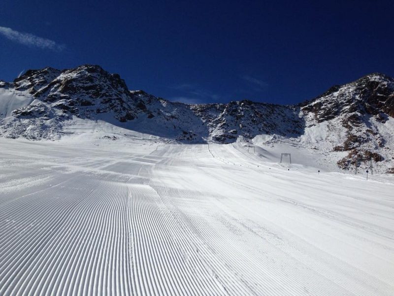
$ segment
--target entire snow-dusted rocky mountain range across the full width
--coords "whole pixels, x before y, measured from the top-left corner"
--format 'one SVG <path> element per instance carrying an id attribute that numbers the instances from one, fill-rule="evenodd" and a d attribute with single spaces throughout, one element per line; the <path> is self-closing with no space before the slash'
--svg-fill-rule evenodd
<path id="1" fill-rule="evenodd" d="M 99 66 L 29 70 L 0 81 L 0 135 L 58 139 L 75 122 L 107 122 L 191 143 L 291 146 L 318 151 L 343 169 L 393 171 L 394 79 L 366 75 L 295 106 L 254 103 L 188 105 L 130 91 Z M 394 171 L 393 171 L 394 172 Z"/>

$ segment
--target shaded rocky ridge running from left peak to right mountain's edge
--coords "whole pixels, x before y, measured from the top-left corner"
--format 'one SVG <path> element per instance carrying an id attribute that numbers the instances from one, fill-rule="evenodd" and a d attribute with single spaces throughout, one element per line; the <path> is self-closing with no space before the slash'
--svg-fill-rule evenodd
<path id="1" fill-rule="evenodd" d="M 63 71 L 29 70 L 8 87 L 27 91 L 35 99 L 31 105 L 13 112 L 14 118 L 8 120 L 7 131 L 3 132 L 11 137 L 19 134 L 40 138 L 42 133 L 37 137 L 24 130 L 37 124 L 60 127 L 72 116 L 101 119 L 180 141 L 229 143 L 238 136 L 253 138 L 261 133 L 294 136 L 303 128 L 299 107 L 247 100 L 210 105 L 169 102 L 143 91 L 129 91 L 118 74 L 109 74 L 94 65 Z"/>

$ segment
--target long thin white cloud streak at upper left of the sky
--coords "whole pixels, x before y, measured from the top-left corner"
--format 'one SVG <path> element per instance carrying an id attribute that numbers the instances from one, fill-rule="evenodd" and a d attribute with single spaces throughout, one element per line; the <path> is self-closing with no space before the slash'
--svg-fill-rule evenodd
<path id="1" fill-rule="evenodd" d="M 18 32 L 7 27 L 0 27 L 0 34 L 12 41 L 41 49 L 62 51 L 65 45 L 58 44 L 53 40 L 41 38 L 29 33 Z"/>

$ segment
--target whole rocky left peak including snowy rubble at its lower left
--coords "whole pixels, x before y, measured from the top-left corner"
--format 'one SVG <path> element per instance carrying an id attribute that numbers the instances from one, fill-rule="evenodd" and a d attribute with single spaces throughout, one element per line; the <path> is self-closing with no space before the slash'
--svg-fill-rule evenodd
<path id="1" fill-rule="evenodd" d="M 140 93 L 131 93 L 118 74 L 109 74 L 95 65 L 63 71 L 29 70 L 7 88 L 28 92 L 34 99 L 29 106 L 13 111 L 14 118 L 4 122 L 3 134 L 8 137 L 59 136 L 62 123 L 72 116 L 114 123 L 132 120 L 141 112 L 150 115 Z M 32 133 L 30 127 L 34 125 L 41 126 L 42 131 Z"/>

